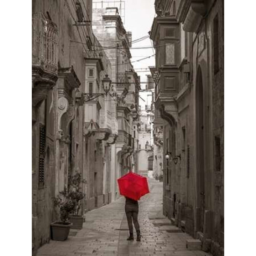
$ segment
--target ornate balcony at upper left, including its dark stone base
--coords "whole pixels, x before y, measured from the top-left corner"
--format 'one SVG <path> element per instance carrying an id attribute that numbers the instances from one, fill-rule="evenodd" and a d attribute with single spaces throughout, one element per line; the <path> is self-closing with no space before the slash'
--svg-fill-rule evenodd
<path id="1" fill-rule="evenodd" d="M 32 106 L 44 100 L 58 79 L 58 29 L 42 13 L 32 14 Z"/>

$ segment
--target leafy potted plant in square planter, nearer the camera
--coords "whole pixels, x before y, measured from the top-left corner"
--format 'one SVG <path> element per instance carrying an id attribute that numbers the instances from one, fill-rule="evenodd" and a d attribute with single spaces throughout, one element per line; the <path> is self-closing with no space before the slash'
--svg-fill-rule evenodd
<path id="1" fill-rule="evenodd" d="M 64 241 L 69 236 L 69 230 L 72 227 L 72 223 L 68 221 L 69 213 L 75 207 L 75 203 L 69 197 L 66 187 L 54 199 L 54 205 L 59 209 L 60 221 L 51 223 L 52 240 Z"/>

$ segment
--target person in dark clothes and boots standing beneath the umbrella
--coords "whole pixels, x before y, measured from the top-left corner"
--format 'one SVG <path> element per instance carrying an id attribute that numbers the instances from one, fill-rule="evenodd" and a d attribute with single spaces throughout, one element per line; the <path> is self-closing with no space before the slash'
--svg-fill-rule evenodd
<path id="1" fill-rule="evenodd" d="M 125 213 L 127 217 L 130 236 L 128 241 L 134 240 L 133 237 L 133 224 L 137 233 L 137 241 L 141 241 L 140 225 L 138 223 L 138 201 L 125 197 Z"/>

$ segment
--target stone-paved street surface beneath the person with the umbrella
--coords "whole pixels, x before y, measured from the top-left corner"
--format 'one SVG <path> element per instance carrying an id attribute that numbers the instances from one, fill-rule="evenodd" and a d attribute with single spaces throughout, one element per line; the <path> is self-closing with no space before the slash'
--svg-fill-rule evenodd
<path id="1" fill-rule="evenodd" d="M 37 256 L 208 256 L 204 251 L 186 249 L 186 233 L 177 232 L 162 215 L 162 183 L 148 179 L 150 193 L 139 201 L 138 221 L 141 242 L 127 241 L 128 226 L 124 213 L 125 199 L 86 213 L 83 229 L 71 229 L 64 242 L 52 241 L 37 251 Z M 134 233 L 136 234 L 135 230 Z"/>

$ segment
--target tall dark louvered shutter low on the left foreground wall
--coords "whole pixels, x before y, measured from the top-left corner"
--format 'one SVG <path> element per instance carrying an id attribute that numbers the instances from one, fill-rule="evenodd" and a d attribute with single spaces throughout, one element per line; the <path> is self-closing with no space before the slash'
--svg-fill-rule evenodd
<path id="1" fill-rule="evenodd" d="M 39 135 L 39 172 L 38 181 L 39 185 L 44 185 L 44 157 L 45 157 L 45 126 L 40 124 Z"/>

